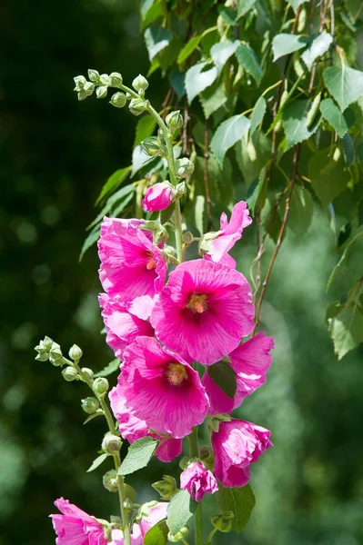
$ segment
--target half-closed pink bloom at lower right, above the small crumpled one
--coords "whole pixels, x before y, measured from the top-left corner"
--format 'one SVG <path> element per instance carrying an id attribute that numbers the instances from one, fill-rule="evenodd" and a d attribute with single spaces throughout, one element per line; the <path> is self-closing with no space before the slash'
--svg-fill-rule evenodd
<path id="1" fill-rule="evenodd" d="M 249 464 L 272 447 L 271 431 L 247 421 L 232 419 L 219 423 L 212 432 L 215 475 L 223 486 L 245 486 L 250 478 Z"/>

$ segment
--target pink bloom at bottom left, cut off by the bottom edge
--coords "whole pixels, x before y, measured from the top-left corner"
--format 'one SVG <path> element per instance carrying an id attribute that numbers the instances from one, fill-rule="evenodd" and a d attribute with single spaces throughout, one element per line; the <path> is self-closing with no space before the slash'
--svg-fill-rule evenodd
<path id="1" fill-rule="evenodd" d="M 102 525 L 84 510 L 64 498 L 55 500 L 62 515 L 50 515 L 57 538 L 56 545 L 107 545 Z"/>

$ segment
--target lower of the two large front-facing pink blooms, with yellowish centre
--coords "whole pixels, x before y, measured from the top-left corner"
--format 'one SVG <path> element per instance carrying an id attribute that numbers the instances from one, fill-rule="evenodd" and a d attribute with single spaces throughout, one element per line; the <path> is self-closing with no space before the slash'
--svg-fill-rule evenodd
<path id="1" fill-rule="evenodd" d="M 207 414 L 208 398 L 198 373 L 155 338 L 137 337 L 126 348 L 116 389 L 133 417 L 175 439 L 191 433 Z"/>

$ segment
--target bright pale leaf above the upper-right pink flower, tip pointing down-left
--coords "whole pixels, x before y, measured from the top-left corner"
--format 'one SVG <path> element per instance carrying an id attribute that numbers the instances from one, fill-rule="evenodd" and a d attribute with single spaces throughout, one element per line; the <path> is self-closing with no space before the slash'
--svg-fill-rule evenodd
<path id="1" fill-rule="evenodd" d="M 250 122 L 245 115 L 233 115 L 227 121 L 220 124 L 214 134 L 210 147 L 222 166 L 227 150 L 242 140 L 249 129 Z"/>

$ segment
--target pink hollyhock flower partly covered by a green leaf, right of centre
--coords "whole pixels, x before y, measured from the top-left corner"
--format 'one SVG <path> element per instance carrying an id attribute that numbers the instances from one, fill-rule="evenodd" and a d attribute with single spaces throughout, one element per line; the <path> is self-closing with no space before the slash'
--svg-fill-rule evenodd
<path id="1" fill-rule="evenodd" d="M 237 382 L 237 391 L 232 399 L 212 381 L 207 372 L 203 375 L 202 384 L 210 401 L 209 414 L 232 412 L 247 395 L 266 382 L 266 374 L 272 362 L 269 352 L 274 347 L 273 338 L 260 332 L 229 354 L 229 365 L 236 372 Z M 213 366 L 209 369 L 213 369 Z"/>

